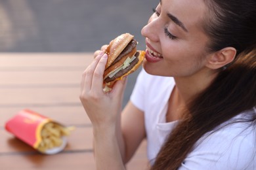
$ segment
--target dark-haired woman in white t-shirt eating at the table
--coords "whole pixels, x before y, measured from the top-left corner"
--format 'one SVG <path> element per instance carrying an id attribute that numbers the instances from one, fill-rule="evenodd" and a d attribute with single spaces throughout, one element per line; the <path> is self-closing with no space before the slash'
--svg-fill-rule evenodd
<path id="1" fill-rule="evenodd" d="M 160 0 L 142 35 L 146 59 L 102 92 L 106 54 L 81 80 L 98 169 L 125 169 L 146 138 L 151 169 L 256 169 L 256 1 Z"/>

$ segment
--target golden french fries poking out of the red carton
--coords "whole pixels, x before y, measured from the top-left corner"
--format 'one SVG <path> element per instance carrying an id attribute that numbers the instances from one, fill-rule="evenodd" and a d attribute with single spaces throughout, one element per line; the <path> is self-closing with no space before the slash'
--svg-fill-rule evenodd
<path id="1" fill-rule="evenodd" d="M 62 137 L 70 135 L 74 127 L 64 127 L 55 122 L 48 122 L 41 130 L 41 143 L 37 150 L 45 152 L 46 150 L 60 147 L 63 143 Z"/>

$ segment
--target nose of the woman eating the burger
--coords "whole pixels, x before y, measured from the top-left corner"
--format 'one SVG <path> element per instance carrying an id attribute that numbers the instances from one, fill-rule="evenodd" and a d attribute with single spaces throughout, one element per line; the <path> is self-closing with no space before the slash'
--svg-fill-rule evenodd
<path id="1" fill-rule="evenodd" d="M 159 37 L 158 37 L 159 30 L 160 29 L 158 29 L 157 18 L 154 20 L 152 20 L 152 18 L 150 18 L 150 20 L 148 21 L 148 24 L 145 25 L 144 27 L 142 27 L 141 35 L 143 37 L 150 39 L 150 41 L 158 42 L 159 41 Z"/>

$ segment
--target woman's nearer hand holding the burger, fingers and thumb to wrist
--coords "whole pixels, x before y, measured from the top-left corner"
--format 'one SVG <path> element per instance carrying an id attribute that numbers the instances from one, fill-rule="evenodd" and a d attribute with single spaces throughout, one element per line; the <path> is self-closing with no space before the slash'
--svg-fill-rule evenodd
<path id="1" fill-rule="evenodd" d="M 126 85 L 126 78 L 123 78 L 114 84 L 111 92 L 103 92 L 103 73 L 107 58 L 107 54 L 100 52 L 93 63 L 87 67 L 81 79 L 81 103 L 94 129 L 116 126 Z"/>

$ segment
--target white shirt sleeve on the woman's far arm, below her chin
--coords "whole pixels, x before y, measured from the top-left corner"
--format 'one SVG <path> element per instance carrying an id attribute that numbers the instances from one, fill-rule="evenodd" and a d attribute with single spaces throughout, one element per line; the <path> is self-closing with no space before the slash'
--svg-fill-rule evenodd
<path id="1" fill-rule="evenodd" d="M 144 111 L 144 92 L 145 92 L 145 76 L 146 76 L 146 71 L 142 69 L 137 77 L 135 87 L 133 88 L 133 92 L 131 93 L 131 102 L 135 107 L 138 109 Z"/>

